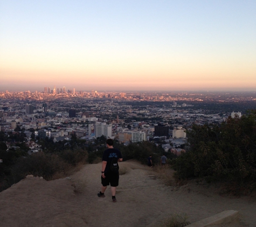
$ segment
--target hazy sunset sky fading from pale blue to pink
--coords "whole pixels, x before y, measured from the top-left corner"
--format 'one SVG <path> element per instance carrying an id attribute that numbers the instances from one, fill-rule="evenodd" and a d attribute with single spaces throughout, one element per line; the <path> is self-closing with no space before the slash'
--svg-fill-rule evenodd
<path id="1" fill-rule="evenodd" d="M 0 0 L 0 90 L 256 90 L 256 1 Z"/>

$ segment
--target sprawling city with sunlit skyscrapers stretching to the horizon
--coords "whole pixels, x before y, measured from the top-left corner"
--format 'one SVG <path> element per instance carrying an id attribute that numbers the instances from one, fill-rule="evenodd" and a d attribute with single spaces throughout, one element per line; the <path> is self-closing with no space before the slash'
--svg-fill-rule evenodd
<path id="1" fill-rule="evenodd" d="M 55 86 L 44 91 L 5 91 L 0 92 L 0 130 L 23 131 L 30 153 L 42 150 L 37 138 L 68 144 L 72 136 L 85 143 L 104 136 L 124 145 L 149 140 L 179 155 L 185 152 L 186 130 L 193 124 L 220 124 L 229 116 L 241 117 L 255 102 L 253 92 L 124 93 Z M 15 142 L 6 144 L 15 148 Z"/>

